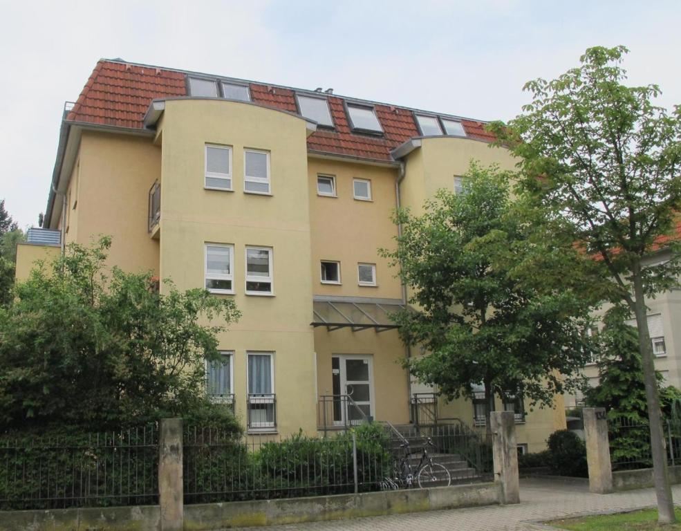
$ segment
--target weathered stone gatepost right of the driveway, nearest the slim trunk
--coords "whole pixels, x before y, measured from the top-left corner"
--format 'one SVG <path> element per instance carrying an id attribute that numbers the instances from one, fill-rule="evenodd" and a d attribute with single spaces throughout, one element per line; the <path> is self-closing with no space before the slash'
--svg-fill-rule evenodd
<path id="1" fill-rule="evenodd" d="M 610 464 L 606 410 L 603 407 L 585 407 L 581 412 L 584 416 L 589 491 L 608 494 L 613 492 L 613 467 Z"/>

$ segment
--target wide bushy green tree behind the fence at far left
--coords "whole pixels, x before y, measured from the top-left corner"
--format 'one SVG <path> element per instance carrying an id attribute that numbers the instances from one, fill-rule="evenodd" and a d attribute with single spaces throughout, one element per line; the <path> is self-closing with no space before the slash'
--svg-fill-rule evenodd
<path id="1" fill-rule="evenodd" d="M 69 245 L 0 308 L 0 429 L 104 429 L 209 407 L 204 364 L 239 318 L 234 301 L 172 284 L 160 295 L 150 272 L 108 274 L 110 244 Z"/>

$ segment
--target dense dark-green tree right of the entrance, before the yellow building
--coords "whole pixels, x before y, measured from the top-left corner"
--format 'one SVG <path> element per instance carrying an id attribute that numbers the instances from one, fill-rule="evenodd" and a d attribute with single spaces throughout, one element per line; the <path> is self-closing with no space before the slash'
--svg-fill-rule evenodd
<path id="1" fill-rule="evenodd" d="M 397 249 L 381 251 L 411 288 L 411 307 L 394 316 L 400 335 L 426 352 L 406 364 L 448 399 L 484 384 L 487 413 L 509 392 L 551 405 L 581 381 L 588 304 L 570 287 L 539 289 L 519 264 L 577 270 L 579 254 L 535 237 L 541 213 L 512 200 L 510 174 L 472 163 L 464 183 L 463 194 L 440 190 L 422 216 L 395 214 Z"/>

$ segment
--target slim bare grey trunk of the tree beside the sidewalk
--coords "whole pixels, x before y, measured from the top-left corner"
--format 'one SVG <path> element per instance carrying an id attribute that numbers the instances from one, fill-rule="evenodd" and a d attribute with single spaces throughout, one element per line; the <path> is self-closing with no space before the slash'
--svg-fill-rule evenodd
<path id="1" fill-rule="evenodd" d="M 648 331 L 648 316 L 644 300 L 643 282 L 640 266 L 633 271 L 635 301 L 633 310 L 638 329 L 638 344 L 643 363 L 643 375 L 646 385 L 646 399 L 648 402 L 648 420 L 651 430 L 651 450 L 653 453 L 653 478 L 655 480 L 655 496 L 657 496 L 657 521 L 673 523 L 674 502 L 667 475 L 666 449 L 664 447 L 664 432 L 660 411 L 660 397 L 657 393 L 657 378 L 655 378 L 655 362 L 653 360 L 653 344 Z"/>

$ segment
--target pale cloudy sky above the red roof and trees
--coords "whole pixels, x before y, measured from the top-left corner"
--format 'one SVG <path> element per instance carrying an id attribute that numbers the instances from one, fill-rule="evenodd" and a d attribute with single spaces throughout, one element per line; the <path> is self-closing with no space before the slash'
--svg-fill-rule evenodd
<path id="1" fill-rule="evenodd" d="M 631 84 L 681 103 L 680 16 L 678 0 L 0 0 L 0 198 L 37 223 L 64 102 L 100 57 L 508 120 L 526 81 L 597 45 L 627 46 Z"/>

